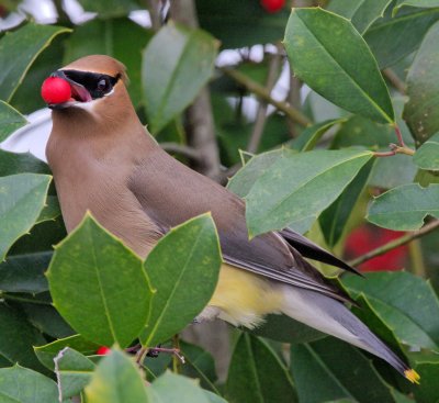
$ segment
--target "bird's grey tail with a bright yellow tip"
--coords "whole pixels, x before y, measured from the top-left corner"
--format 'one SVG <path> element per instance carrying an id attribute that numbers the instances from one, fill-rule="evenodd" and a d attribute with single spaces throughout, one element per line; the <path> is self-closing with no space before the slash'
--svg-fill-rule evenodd
<path id="1" fill-rule="evenodd" d="M 284 295 L 282 312 L 285 315 L 382 358 L 410 382 L 419 383 L 418 373 L 342 303 L 315 291 L 291 286 L 282 287 Z"/>

